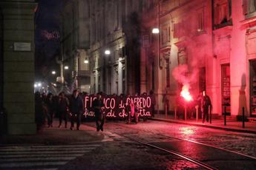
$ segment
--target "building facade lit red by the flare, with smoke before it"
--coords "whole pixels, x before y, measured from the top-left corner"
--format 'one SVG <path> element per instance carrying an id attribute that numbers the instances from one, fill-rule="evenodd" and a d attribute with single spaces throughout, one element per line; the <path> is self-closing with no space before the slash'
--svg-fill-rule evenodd
<path id="1" fill-rule="evenodd" d="M 169 111 L 188 85 L 206 90 L 212 112 L 255 117 L 255 1 L 158 1 L 142 23 L 141 83 L 154 89 L 157 109 Z M 159 27 L 158 35 L 151 34 Z M 141 73 L 142 73 L 141 72 Z"/>

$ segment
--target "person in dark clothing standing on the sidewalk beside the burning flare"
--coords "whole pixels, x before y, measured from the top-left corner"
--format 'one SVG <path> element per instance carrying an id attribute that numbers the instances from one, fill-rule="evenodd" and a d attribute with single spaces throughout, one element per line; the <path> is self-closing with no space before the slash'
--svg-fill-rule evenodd
<path id="1" fill-rule="evenodd" d="M 210 107 L 210 110 L 209 110 Z M 201 111 L 203 113 L 203 123 L 205 122 L 205 120 L 207 122 L 209 122 L 209 111 L 211 112 L 211 99 L 209 97 L 209 95 L 206 95 L 206 92 L 203 91 L 203 97 L 201 99 Z"/>

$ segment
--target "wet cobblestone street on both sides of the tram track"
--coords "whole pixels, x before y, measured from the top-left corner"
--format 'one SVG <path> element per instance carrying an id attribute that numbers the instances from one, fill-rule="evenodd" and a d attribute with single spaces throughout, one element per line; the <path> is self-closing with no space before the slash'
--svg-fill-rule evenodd
<path id="1" fill-rule="evenodd" d="M 94 123 L 85 123 L 85 125 L 94 126 Z M 82 167 L 86 169 L 203 169 L 180 157 L 133 142 L 124 136 L 136 137 L 148 143 L 183 138 L 251 156 L 255 156 L 256 153 L 256 135 L 176 123 L 148 120 L 137 124 L 126 124 L 122 121 L 108 121 L 105 123 L 104 133 L 113 141 L 103 143 L 103 146 L 94 150 L 93 153 L 85 154 L 62 166 L 61 169 L 83 169 Z"/>

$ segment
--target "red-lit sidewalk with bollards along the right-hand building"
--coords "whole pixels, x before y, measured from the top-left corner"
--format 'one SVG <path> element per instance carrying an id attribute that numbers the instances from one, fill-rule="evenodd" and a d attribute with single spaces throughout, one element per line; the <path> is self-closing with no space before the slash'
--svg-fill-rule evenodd
<path id="1" fill-rule="evenodd" d="M 186 125 L 192 126 L 202 126 L 212 129 L 223 129 L 226 131 L 233 131 L 233 132 L 245 132 L 245 133 L 252 133 L 256 134 L 256 122 L 245 122 L 245 128 L 243 128 L 243 123 L 241 121 L 226 121 L 226 126 L 224 126 L 223 119 L 212 119 L 211 123 L 205 122 L 202 123 L 202 119 L 174 119 L 174 115 L 168 115 L 167 118 L 163 114 L 155 114 L 154 118 L 151 120 L 160 120 L 170 123 L 182 123 Z"/>

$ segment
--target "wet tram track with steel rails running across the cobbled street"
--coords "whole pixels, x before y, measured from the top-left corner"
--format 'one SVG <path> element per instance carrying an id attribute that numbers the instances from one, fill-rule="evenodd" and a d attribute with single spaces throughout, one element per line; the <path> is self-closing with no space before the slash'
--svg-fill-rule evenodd
<path id="1" fill-rule="evenodd" d="M 129 128 L 136 130 L 136 132 L 143 132 L 143 133 L 149 133 L 149 135 L 157 135 L 158 137 L 169 137 L 170 139 L 174 139 L 174 140 L 159 140 L 159 141 L 145 141 L 145 140 L 140 140 L 140 136 L 136 135 L 136 134 L 131 134 L 131 135 L 123 135 L 120 132 L 115 132 L 118 135 L 122 136 L 122 137 L 126 137 L 129 140 L 133 140 L 134 142 L 140 143 L 142 145 L 145 146 L 149 146 L 152 147 L 154 149 L 160 149 L 163 152 L 168 152 L 169 154 L 174 154 L 177 157 L 181 157 L 185 160 L 188 160 L 191 163 L 196 164 L 197 166 L 203 167 L 204 169 L 226 169 L 226 165 L 225 163 L 227 163 L 227 165 L 232 166 L 233 163 L 237 163 L 237 164 L 243 164 L 244 163 L 249 163 L 249 165 L 253 165 L 255 166 L 256 164 L 254 163 L 256 160 L 256 157 L 252 157 L 250 155 L 247 154 L 243 154 L 240 152 L 234 152 L 228 149 L 223 149 L 217 146 L 212 146 L 206 143 L 200 143 L 194 140 L 188 140 L 188 139 L 184 139 L 184 138 L 180 138 L 180 137 L 173 137 L 171 135 L 163 135 L 163 134 L 155 134 L 152 133 L 151 131 L 148 130 L 144 130 L 144 129 L 137 129 L 135 127 L 132 126 L 127 126 L 127 125 L 121 125 L 121 124 L 114 124 L 115 126 L 119 126 L 121 128 Z M 145 133 L 145 134 L 146 134 Z M 175 141 L 176 140 L 176 141 Z M 209 156 L 203 157 L 203 158 L 198 158 L 197 156 L 194 156 L 193 154 L 189 155 L 186 154 L 186 152 L 183 152 L 183 149 L 177 149 L 175 150 L 175 146 L 179 146 L 179 144 L 177 143 L 185 143 L 188 146 L 194 146 L 195 148 L 200 148 L 200 149 L 205 149 L 207 152 L 209 153 L 220 153 L 220 157 L 217 157 L 216 155 L 211 156 L 211 154 L 209 154 Z M 174 145 L 174 146 L 172 146 Z M 178 148 L 178 147 L 177 147 Z M 200 150 L 199 149 L 199 150 Z M 189 150 L 189 149 L 188 149 Z M 217 163 L 213 163 L 213 162 L 222 162 L 223 166 L 217 165 Z M 225 161 L 225 163 L 224 163 Z M 207 162 L 207 163 L 205 163 Z M 235 169 L 235 168 L 234 168 Z"/>

